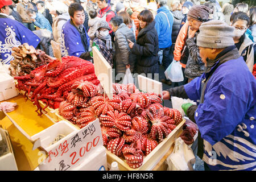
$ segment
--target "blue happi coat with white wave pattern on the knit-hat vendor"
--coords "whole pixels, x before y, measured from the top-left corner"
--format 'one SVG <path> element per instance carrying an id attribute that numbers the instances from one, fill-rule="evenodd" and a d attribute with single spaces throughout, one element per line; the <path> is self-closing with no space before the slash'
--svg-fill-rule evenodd
<path id="1" fill-rule="evenodd" d="M 218 62 L 213 66 L 216 67 Z M 184 85 L 199 101 L 203 73 Z M 209 78 L 195 121 L 204 139 L 203 160 L 212 170 L 256 169 L 256 80 L 242 57 L 221 64 Z"/>

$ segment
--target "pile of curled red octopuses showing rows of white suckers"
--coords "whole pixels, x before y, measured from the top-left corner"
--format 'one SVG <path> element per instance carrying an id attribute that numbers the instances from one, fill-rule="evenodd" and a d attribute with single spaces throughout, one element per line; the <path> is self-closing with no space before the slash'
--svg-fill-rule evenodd
<path id="1" fill-rule="evenodd" d="M 99 118 L 104 145 L 113 154 L 123 155 L 131 168 L 142 166 L 143 156 L 182 120 L 179 111 L 160 104 L 160 97 L 139 92 L 133 84 L 113 84 L 112 100 L 88 81 L 75 82 L 71 88 L 59 114 L 80 128 Z"/>

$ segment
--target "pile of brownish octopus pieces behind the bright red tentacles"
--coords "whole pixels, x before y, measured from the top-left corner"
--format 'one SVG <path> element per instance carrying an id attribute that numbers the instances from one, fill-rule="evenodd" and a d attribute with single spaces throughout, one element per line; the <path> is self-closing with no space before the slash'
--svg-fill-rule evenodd
<path id="1" fill-rule="evenodd" d="M 24 76 L 30 74 L 32 70 L 41 65 L 48 64 L 53 57 L 48 56 L 44 51 L 35 49 L 24 43 L 18 47 L 13 47 L 14 60 L 10 61 L 9 70 L 11 76 Z"/>

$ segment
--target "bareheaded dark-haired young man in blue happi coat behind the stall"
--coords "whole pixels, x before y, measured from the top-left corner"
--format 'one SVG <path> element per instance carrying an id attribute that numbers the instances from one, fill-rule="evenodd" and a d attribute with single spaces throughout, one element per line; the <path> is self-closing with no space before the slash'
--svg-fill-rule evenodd
<path id="1" fill-rule="evenodd" d="M 71 19 L 63 25 L 64 45 L 61 46 L 69 56 L 80 57 L 82 53 L 91 50 L 90 38 L 83 26 L 85 20 L 84 8 L 79 3 L 72 3 L 68 8 L 68 13 Z"/>

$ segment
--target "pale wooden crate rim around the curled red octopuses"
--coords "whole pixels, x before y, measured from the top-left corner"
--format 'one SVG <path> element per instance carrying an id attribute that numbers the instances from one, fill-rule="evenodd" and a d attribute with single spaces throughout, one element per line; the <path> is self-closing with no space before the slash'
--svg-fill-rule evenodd
<path id="1" fill-rule="evenodd" d="M 160 142 L 158 146 L 156 146 L 154 150 L 150 152 L 150 154 L 144 157 L 141 167 L 135 169 L 130 168 L 125 162 L 124 158 L 119 158 L 118 156 L 112 154 L 110 151 L 106 150 L 109 167 L 111 163 L 115 161 L 118 163 L 118 167 L 121 171 L 151 171 L 168 152 L 170 147 L 174 144 L 175 139 L 180 136 L 183 131 L 182 127 L 184 123 L 185 119 L 183 118 L 183 121 L 179 123 L 179 125 L 168 135 L 168 137 Z"/>

